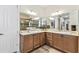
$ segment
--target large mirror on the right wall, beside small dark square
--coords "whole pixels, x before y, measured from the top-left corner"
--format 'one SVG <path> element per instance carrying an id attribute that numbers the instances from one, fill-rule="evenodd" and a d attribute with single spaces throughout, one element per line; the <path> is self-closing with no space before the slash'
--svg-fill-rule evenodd
<path id="1" fill-rule="evenodd" d="M 69 13 L 51 16 L 50 26 L 59 31 L 69 31 Z"/>

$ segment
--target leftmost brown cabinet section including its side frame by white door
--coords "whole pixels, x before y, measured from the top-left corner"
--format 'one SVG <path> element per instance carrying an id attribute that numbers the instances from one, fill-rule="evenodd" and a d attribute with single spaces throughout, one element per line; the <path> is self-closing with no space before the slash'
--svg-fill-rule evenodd
<path id="1" fill-rule="evenodd" d="M 33 36 L 32 35 L 24 35 L 21 36 L 21 52 L 29 52 L 33 49 Z"/>

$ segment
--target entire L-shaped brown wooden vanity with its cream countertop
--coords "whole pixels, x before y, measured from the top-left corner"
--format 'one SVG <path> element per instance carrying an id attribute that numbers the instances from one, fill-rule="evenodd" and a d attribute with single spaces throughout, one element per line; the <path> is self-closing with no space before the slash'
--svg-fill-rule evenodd
<path id="1" fill-rule="evenodd" d="M 79 35 L 76 32 L 59 32 L 53 30 L 21 31 L 20 51 L 27 53 L 43 45 L 48 45 L 62 52 L 79 52 Z"/>

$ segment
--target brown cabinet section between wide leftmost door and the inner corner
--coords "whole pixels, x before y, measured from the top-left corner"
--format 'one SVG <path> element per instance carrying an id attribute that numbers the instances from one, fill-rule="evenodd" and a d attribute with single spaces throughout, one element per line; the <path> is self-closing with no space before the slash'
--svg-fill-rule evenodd
<path id="1" fill-rule="evenodd" d="M 34 34 L 34 48 L 42 46 L 45 44 L 45 33 Z"/>

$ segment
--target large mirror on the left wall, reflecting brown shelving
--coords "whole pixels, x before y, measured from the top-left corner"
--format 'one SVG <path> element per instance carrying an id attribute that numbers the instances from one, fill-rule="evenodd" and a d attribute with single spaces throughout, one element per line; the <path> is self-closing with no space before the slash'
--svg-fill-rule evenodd
<path id="1" fill-rule="evenodd" d="M 47 18 L 44 17 L 32 17 L 30 15 L 20 14 L 20 29 L 30 30 L 30 29 L 47 29 L 50 26 L 47 24 Z"/>

